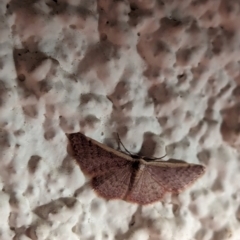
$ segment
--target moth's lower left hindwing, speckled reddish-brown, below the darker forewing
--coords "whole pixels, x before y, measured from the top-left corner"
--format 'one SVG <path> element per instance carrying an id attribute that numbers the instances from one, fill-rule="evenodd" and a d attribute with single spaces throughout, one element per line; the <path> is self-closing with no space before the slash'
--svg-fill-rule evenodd
<path id="1" fill-rule="evenodd" d="M 131 181 L 131 164 L 115 171 L 107 172 L 92 179 L 92 187 L 98 195 L 106 199 L 123 199 Z"/>

